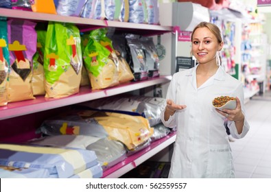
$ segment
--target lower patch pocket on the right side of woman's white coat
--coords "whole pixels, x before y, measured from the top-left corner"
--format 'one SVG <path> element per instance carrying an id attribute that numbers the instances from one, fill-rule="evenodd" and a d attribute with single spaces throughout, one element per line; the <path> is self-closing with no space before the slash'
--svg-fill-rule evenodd
<path id="1" fill-rule="evenodd" d="M 210 145 L 207 178 L 234 178 L 230 145 Z"/>

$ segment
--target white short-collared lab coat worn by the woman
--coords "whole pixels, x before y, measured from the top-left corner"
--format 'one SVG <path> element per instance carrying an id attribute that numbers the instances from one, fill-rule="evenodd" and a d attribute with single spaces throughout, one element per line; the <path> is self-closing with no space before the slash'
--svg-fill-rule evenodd
<path id="1" fill-rule="evenodd" d="M 161 112 L 164 125 L 177 128 L 169 178 L 234 178 L 225 117 L 215 111 L 212 100 L 221 95 L 238 97 L 245 115 L 243 84 L 219 67 L 213 77 L 197 88 L 197 67 L 175 73 L 167 90 L 167 99 L 187 108 L 177 110 L 168 121 Z M 235 139 L 241 139 L 249 130 L 246 116 L 241 134 L 233 121 L 228 121 L 228 128 Z"/>

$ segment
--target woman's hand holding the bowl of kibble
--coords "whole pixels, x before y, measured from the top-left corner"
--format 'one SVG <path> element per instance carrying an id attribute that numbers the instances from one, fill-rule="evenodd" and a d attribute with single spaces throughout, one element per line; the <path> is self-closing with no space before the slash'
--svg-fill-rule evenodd
<path id="1" fill-rule="evenodd" d="M 241 112 L 241 103 L 236 97 L 236 108 L 234 110 L 224 109 L 223 111 L 215 109 L 220 115 L 226 117 L 229 121 L 242 122 L 244 121 L 244 114 Z"/>

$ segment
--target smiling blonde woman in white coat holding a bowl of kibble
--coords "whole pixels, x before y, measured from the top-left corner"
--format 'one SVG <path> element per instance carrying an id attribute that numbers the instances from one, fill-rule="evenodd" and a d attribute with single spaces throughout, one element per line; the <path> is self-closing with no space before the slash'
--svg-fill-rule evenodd
<path id="1" fill-rule="evenodd" d="M 234 178 L 233 156 L 224 128 L 235 139 L 249 130 L 244 112 L 243 84 L 220 66 L 224 43 L 220 29 L 207 22 L 191 34 L 196 67 L 173 75 L 167 90 L 167 106 L 161 113 L 165 126 L 177 128 L 169 178 Z M 216 110 L 212 101 L 236 97 L 234 110 Z"/>

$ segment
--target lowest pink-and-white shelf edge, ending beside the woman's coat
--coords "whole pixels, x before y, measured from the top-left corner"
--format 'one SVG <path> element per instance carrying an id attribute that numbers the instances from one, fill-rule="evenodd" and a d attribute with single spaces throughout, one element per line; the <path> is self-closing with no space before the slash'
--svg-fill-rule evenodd
<path id="1" fill-rule="evenodd" d="M 129 156 L 125 160 L 121 161 L 117 165 L 111 167 L 110 169 L 104 171 L 102 178 L 119 178 L 128 171 L 139 166 L 145 160 L 148 160 L 150 157 L 154 156 L 156 153 L 160 152 L 165 147 L 174 143 L 176 139 L 176 132 L 173 132 L 158 141 L 154 141 L 150 146 L 142 149 L 140 152 Z"/>

